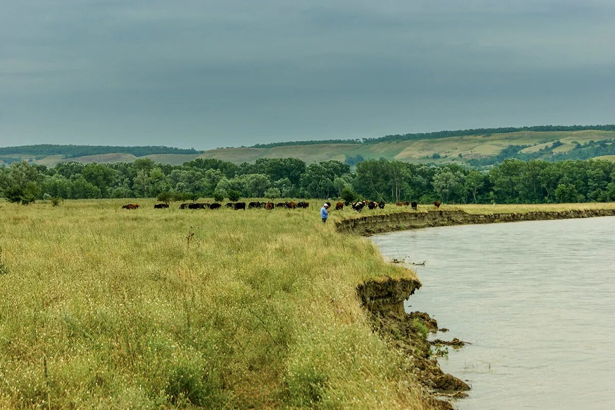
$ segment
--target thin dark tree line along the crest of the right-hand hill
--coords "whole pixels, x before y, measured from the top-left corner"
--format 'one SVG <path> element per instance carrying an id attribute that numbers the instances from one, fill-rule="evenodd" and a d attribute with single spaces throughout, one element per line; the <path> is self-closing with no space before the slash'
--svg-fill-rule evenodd
<path id="1" fill-rule="evenodd" d="M 511 132 L 535 131 L 583 131 L 600 130 L 615 131 L 614 124 L 606 125 L 536 125 L 533 127 L 501 127 L 501 128 L 471 128 L 469 130 L 422 132 L 410 134 L 386 135 L 378 138 L 354 138 L 351 140 L 311 140 L 311 141 L 288 141 L 284 143 L 255 144 L 252 148 L 273 148 L 289 145 L 313 145 L 313 144 L 374 144 L 385 141 L 412 141 L 434 140 L 436 138 L 448 138 L 450 136 L 505 134 Z"/>

